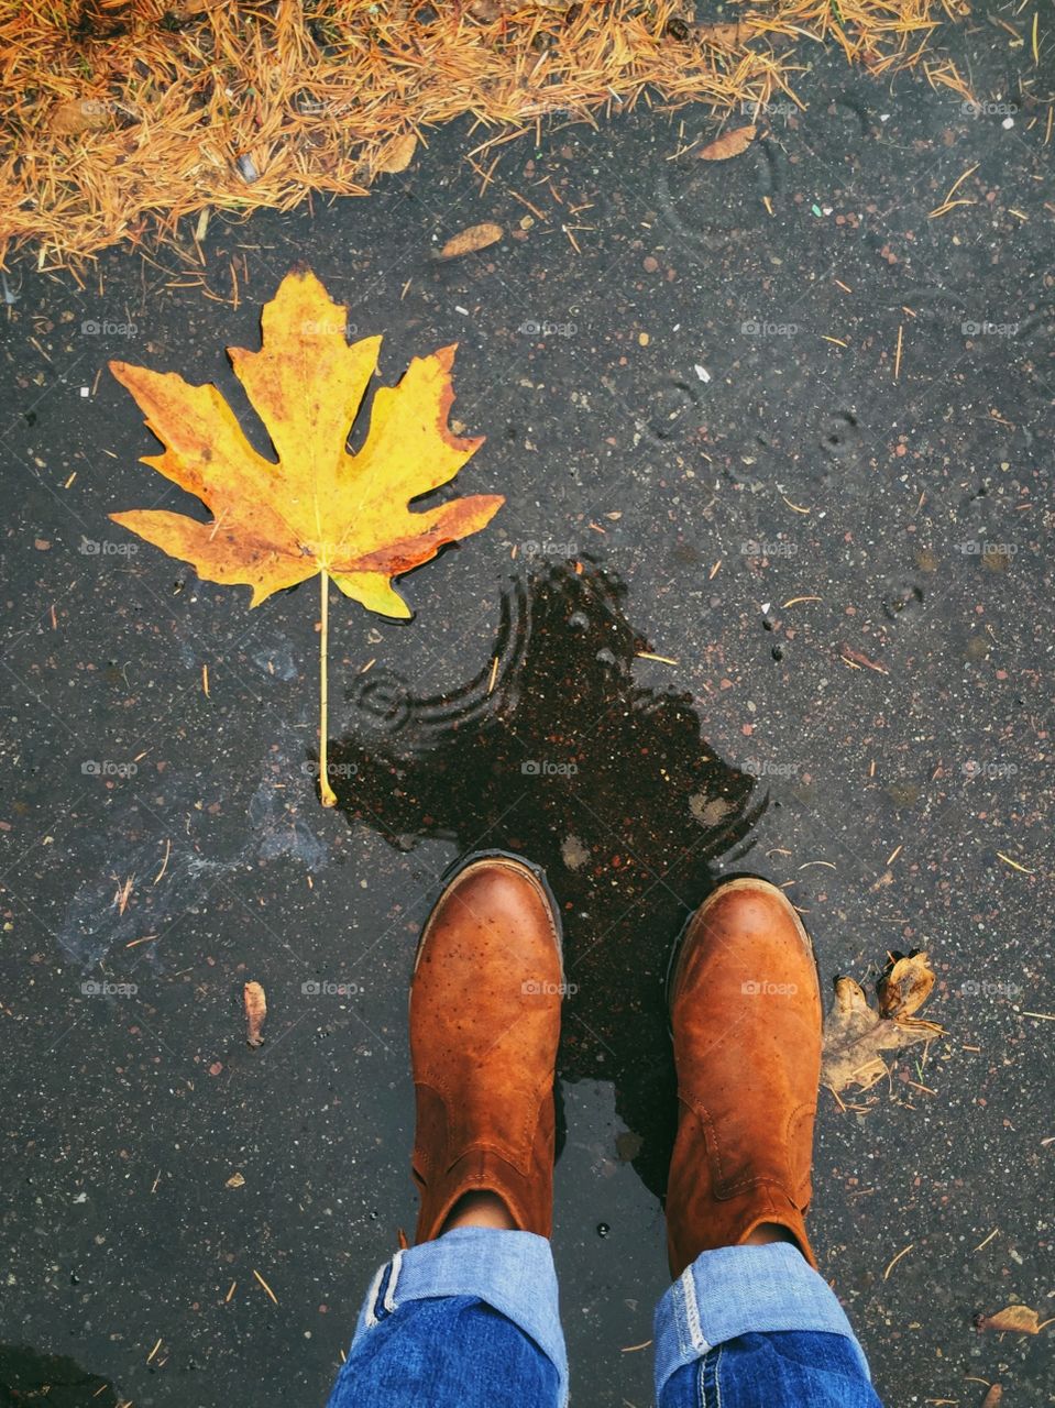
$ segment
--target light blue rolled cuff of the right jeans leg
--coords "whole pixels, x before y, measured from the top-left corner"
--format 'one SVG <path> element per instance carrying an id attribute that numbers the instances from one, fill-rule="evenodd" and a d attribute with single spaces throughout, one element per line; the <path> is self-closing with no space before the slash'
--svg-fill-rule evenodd
<path id="1" fill-rule="evenodd" d="M 701 1252 L 655 1314 L 656 1402 L 668 1378 L 738 1335 L 820 1331 L 848 1339 L 866 1378 L 868 1360 L 823 1276 L 787 1242 Z"/>

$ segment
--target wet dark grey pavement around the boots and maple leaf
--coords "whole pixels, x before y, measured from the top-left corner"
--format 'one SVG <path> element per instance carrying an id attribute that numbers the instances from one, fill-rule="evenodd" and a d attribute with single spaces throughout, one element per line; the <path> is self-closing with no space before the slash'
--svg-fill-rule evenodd
<path id="1" fill-rule="evenodd" d="M 825 984 L 938 972 L 925 1064 L 820 1100 L 813 1235 L 885 1402 L 1055 1402 L 1051 1329 L 975 1328 L 1055 1304 L 1052 83 L 982 17 L 947 37 L 980 110 L 817 51 L 807 111 L 725 163 L 690 155 L 707 113 L 641 104 L 501 148 L 480 194 L 456 124 L 368 200 L 214 218 L 237 310 L 166 251 L 10 280 L 0 1402 L 324 1401 L 414 1222 L 418 929 L 482 848 L 563 910 L 576 1402 L 652 1398 L 663 974 L 744 870 Z M 482 220 L 500 245 L 432 258 Z M 385 334 L 382 383 L 458 341 L 487 442 L 454 491 L 507 496 L 404 579 L 408 625 L 331 603 L 334 812 L 314 583 L 249 612 L 107 520 L 194 508 L 106 360 L 214 380 L 266 451 L 224 348 L 297 262 Z"/>

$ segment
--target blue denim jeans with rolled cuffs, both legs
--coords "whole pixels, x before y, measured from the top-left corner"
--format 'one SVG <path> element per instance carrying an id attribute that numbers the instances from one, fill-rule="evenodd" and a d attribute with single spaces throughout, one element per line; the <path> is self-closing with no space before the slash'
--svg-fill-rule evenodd
<path id="1" fill-rule="evenodd" d="M 880 1408 L 839 1302 L 786 1242 L 703 1252 L 655 1314 L 659 1408 Z M 549 1243 L 458 1228 L 376 1274 L 328 1408 L 563 1408 Z"/>

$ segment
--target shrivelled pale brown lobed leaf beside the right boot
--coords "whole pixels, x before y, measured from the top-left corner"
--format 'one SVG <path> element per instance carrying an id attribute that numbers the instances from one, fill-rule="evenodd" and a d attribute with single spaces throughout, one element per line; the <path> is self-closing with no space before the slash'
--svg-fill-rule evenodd
<path id="1" fill-rule="evenodd" d="M 878 984 L 878 1010 L 869 1007 L 861 984 L 852 977 L 837 979 L 835 1001 L 824 1022 L 821 1083 L 837 1095 L 849 1086 L 870 1090 L 887 1071 L 880 1052 L 900 1050 L 941 1036 L 942 1028 L 937 1022 L 911 1015 L 932 986 L 934 973 L 925 953 L 894 956 Z M 887 1011 L 890 1015 L 886 1015 Z"/>

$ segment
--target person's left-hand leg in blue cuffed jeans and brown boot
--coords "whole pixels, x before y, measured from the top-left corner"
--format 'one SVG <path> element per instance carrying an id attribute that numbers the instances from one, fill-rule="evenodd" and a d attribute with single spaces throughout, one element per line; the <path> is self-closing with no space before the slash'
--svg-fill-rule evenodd
<path id="1" fill-rule="evenodd" d="M 410 993 L 417 1245 L 373 1280 L 328 1408 L 559 1408 L 549 1252 L 559 919 L 527 865 L 447 886 Z"/>

